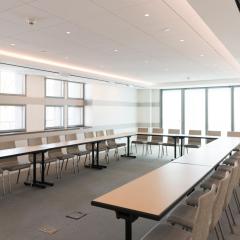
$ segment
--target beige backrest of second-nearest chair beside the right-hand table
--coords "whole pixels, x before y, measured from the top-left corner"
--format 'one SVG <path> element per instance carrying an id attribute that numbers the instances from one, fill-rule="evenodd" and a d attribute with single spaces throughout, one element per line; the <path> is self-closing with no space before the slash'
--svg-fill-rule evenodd
<path id="1" fill-rule="evenodd" d="M 213 230 L 215 228 L 219 219 L 221 218 L 224 200 L 226 198 L 227 189 L 228 189 L 231 175 L 232 175 L 232 173 L 226 172 L 225 177 L 219 181 L 216 200 L 214 202 L 214 208 L 212 211 L 212 221 L 211 221 L 211 226 L 210 226 L 211 230 Z"/>

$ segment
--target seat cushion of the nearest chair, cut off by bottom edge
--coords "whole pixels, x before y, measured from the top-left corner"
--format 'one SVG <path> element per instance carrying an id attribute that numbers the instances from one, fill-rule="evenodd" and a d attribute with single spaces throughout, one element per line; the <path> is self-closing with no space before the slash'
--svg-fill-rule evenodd
<path id="1" fill-rule="evenodd" d="M 191 233 L 177 226 L 159 224 L 142 240 L 191 240 Z"/>

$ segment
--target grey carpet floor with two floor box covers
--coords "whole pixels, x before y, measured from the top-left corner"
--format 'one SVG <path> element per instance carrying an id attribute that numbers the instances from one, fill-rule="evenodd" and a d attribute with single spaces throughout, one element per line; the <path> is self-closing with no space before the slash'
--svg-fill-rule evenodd
<path id="1" fill-rule="evenodd" d="M 107 169 L 81 167 L 79 174 L 73 174 L 69 163 L 61 180 L 55 178 L 52 167 L 47 180 L 53 181 L 55 186 L 46 189 L 25 187 L 23 174 L 18 185 L 13 183 L 12 193 L 0 200 L 0 240 L 123 240 L 124 221 L 117 220 L 112 211 L 91 206 L 91 200 L 166 164 L 169 159 L 170 156 L 159 160 L 154 154 L 120 161 L 111 157 Z M 15 177 L 12 176 L 12 181 Z M 87 215 L 80 220 L 66 218 L 74 211 Z M 234 211 L 240 225 L 235 207 Z M 141 239 L 156 224 L 139 218 L 133 224 L 133 239 Z M 240 235 L 229 233 L 225 218 L 223 225 L 226 239 L 240 239 Z M 58 231 L 49 235 L 39 230 L 43 226 Z M 240 231 L 238 226 L 236 231 Z M 214 240 L 215 236 L 210 239 Z"/>

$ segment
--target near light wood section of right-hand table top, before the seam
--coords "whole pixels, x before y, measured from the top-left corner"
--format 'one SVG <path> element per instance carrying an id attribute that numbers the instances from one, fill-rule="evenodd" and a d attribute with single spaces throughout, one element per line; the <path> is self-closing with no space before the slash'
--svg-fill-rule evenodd
<path id="1" fill-rule="evenodd" d="M 159 220 L 211 169 L 169 163 L 93 200 L 92 205 Z"/>

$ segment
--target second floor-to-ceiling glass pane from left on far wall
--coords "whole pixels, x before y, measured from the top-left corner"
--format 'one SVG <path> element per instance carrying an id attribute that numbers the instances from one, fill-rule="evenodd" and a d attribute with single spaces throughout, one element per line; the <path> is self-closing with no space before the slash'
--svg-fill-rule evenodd
<path id="1" fill-rule="evenodd" d="M 205 134 L 205 90 L 185 90 L 185 133 L 201 130 Z"/>

